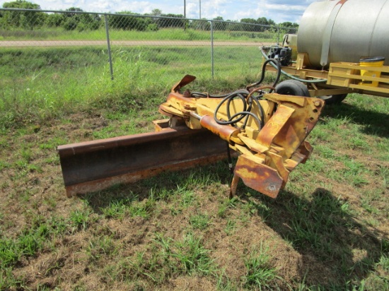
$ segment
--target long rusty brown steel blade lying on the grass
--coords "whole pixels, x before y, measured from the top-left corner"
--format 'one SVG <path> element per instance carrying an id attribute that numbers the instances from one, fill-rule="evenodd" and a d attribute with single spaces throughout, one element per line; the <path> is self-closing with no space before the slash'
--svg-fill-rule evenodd
<path id="1" fill-rule="evenodd" d="M 226 141 L 210 131 L 166 128 L 57 147 L 66 195 L 136 182 L 169 170 L 207 165 L 227 157 Z"/>

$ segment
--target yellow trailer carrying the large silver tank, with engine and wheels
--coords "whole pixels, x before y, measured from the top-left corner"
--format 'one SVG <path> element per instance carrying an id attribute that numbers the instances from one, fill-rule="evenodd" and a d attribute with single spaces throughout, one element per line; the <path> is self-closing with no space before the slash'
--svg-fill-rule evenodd
<path id="1" fill-rule="evenodd" d="M 289 80 L 277 93 L 342 102 L 349 93 L 389 97 L 389 1 L 330 0 L 308 6 L 296 35 L 262 47 Z M 276 67 L 267 66 L 269 71 Z"/>

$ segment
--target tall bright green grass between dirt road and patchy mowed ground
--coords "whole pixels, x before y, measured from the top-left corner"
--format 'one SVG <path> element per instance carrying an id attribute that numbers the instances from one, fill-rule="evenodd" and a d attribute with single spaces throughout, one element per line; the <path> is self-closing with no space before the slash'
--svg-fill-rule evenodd
<path id="1" fill-rule="evenodd" d="M 113 81 L 107 59 L 102 48 L 2 49 L 0 128 L 108 107 L 111 114 L 154 109 L 185 74 L 203 78 L 202 82 L 211 76 L 207 47 L 113 48 Z M 215 81 L 216 90 L 231 76 L 240 84 L 248 76 L 255 80 L 259 64 L 255 47 L 216 49 L 216 77 L 222 81 L 219 86 Z"/>

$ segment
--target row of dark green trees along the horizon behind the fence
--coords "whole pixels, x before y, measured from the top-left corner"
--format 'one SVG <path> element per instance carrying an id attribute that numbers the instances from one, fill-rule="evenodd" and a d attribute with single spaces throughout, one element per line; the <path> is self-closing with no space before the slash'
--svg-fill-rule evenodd
<path id="1" fill-rule="evenodd" d="M 3 8 L 19 8 L 41 10 L 38 4 L 26 0 L 5 2 Z M 0 28 L 23 28 L 34 30 L 37 28 L 64 28 L 64 30 L 97 30 L 104 25 L 104 18 L 99 14 L 82 13 L 77 7 L 66 9 L 66 13 L 46 13 L 31 11 L 0 11 Z M 139 17 L 146 16 L 146 17 Z M 243 18 L 240 23 L 229 23 L 231 20 L 223 20 L 221 16 L 214 18 L 215 30 L 240 30 L 263 31 L 263 25 L 276 25 L 273 20 L 265 17 Z M 253 28 L 251 24 L 257 24 Z M 119 30 L 156 31 L 160 28 L 197 28 L 210 30 L 211 24 L 205 19 L 188 20 L 182 14 L 164 14 L 159 9 L 153 9 L 151 13 L 139 15 L 131 11 L 120 11 L 108 16 L 110 28 Z M 262 25 L 262 26 L 261 26 Z M 297 28 L 297 23 L 279 23 L 285 28 Z"/>

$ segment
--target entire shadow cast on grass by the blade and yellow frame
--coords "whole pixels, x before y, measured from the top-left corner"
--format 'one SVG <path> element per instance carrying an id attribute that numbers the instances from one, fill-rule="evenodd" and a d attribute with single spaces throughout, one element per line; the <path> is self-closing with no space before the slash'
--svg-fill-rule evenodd
<path id="1" fill-rule="evenodd" d="M 169 202 L 174 196 L 182 195 L 179 189 L 193 191 L 202 185 L 230 182 L 231 174 L 226 162 L 218 162 L 192 170 L 165 172 L 81 198 L 95 213 L 106 214 L 106 210 L 115 203 L 124 201 L 131 206 L 138 201 L 147 203 L 151 198 Z M 325 290 L 352 290 L 353 286 L 368 278 L 381 259 L 383 243 L 379 237 L 387 234 L 368 230 L 352 215 L 346 202 L 335 198 L 326 189 L 318 188 L 308 198 L 282 191 L 279 198 L 274 200 L 245 188 L 243 184 L 238 188 L 240 193 L 251 193 L 255 199 L 250 198 L 250 202 L 254 203 L 257 215 L 301 254 L 298 275 L 304 278 L 308 286 L 317 285 Z M 241 196 L 240 199 L 249 198 Z M 267 207 L 263 207 L 264 204 Z"/>

